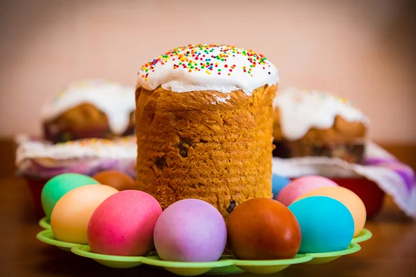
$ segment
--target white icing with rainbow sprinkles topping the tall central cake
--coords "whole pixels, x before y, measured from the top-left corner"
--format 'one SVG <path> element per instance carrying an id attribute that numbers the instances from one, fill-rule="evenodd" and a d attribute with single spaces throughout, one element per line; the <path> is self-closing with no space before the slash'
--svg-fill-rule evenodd
<path id="1" fill-rule="evenodd" d="M 251 95 L 254 89 L 279 82 L 275 64 L 263 55 L 217 44 L 174 48 L 141 66 L 138 75 L 137 85 L 144 89 L 162 86 L 178 93 L 241 89 Z"/>

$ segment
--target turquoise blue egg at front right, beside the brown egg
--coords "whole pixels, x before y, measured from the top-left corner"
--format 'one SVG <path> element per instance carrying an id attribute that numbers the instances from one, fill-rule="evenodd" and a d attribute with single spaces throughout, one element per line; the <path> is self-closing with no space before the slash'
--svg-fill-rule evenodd
<path id="1" fill-rule="evenodd" d="M 331 197 L 312 196 L 293 202 L 288 208 L 302 230 L 299 253 L 344 250 L 354 236 L 354 218 L 348 208 Z"/>

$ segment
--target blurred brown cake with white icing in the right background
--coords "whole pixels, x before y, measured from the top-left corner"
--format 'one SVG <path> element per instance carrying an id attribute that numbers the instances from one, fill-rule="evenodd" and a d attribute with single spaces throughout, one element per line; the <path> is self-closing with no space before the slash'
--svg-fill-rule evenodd
<path id="1" fill-rule="evenodd" d="M 361 163 L 369 120 L 352 102 L 288 87 L 274 101 L 273 156 L 333 157 Z"/>

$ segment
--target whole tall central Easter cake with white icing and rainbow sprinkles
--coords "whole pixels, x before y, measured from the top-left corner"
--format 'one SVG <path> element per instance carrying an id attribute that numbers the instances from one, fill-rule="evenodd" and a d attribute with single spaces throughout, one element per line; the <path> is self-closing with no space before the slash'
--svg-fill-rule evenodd
<path id="1" fill-rule="evenodd" d="M 144 64 L 136 88 L 137 186 L 162 208 L 213 204 L 225 220 L 272 197 L 272 102 L 279 75 L 254 51 L 174 48 Z"/>

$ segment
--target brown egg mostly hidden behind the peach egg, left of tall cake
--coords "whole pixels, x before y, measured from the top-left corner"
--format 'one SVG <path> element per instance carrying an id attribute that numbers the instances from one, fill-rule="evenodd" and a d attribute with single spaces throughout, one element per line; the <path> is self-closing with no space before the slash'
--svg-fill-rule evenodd
<path id="1" fill-rule="evenodd" d="M 112 186 L 117 190 L 134 190 L 136 182 L 129 175 L 117 170 L 105 170 L 93 176 L 100 184 Z"/>

